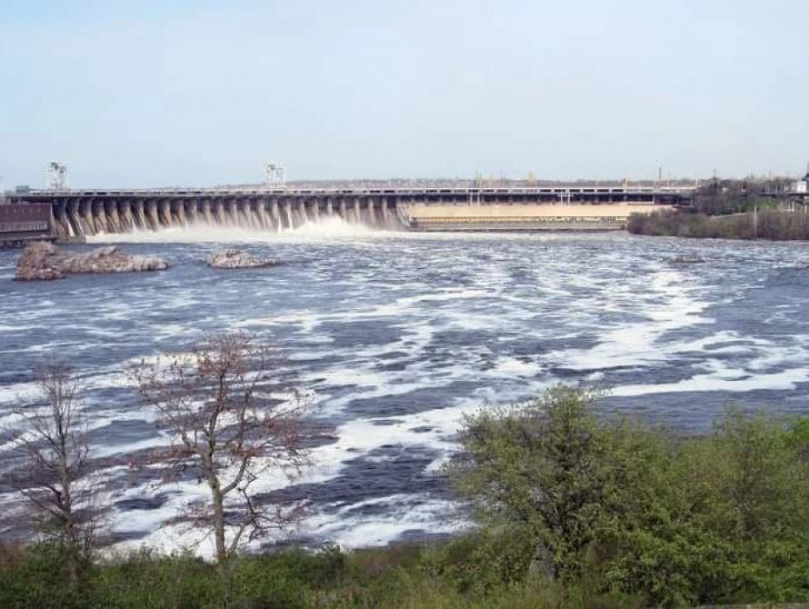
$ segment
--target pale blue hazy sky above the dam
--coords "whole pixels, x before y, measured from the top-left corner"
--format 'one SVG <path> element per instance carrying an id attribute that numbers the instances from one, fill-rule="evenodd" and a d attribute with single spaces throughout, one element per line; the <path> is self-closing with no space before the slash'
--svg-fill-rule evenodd
<path id="1" fill-rule="evenodd" d="M 0 0 L 0 189 L 798 175 L 806 0 Z"/>

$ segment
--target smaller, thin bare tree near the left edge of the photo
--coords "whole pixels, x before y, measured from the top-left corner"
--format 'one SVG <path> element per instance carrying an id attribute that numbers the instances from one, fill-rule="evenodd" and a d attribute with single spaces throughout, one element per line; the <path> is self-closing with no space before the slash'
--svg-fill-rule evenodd
<path id="1" fill-rule="evenodd" d="M 78 579 L 95 545 L 98 511 L 88 473 L 87 425 L 78 383 L 65 364 L 37 373 L 44 403 L 15 410 L 8 480 L 33 507 L 35 530 L 68 550 L 70 576 Z"/>

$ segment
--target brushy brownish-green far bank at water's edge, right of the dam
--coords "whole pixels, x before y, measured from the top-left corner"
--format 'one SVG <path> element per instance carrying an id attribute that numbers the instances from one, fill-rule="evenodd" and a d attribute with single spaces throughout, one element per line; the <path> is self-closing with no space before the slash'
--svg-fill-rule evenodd
<path id="1" fill-rule="evenodd" d="M 634 235 L 714 239 L 809 239 L 809 215 L 797 211 L 763 209 L 730 215 L 706 215 L 678 211 L 631 215 L 626 230 Z"/>

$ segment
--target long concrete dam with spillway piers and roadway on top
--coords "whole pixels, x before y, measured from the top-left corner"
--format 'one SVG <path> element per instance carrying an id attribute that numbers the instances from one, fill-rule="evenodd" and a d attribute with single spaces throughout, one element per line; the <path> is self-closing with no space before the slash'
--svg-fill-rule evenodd
<path id="1" fill-rule="evenodd" d="M 689 205 L 693 187 L 572 185 L 408 188 L 29 190 L 6 205 L 48 205 L 59 237 L 155 231 L 193 223 L 279 231 L 339 216 L 411 230 L 620 228 L 631 213 Z"/>

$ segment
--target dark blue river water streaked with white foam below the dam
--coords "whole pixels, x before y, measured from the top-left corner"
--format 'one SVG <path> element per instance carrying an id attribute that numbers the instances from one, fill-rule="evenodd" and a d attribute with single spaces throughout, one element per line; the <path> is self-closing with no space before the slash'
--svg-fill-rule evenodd
<path id="1" fill-rule="evenodd" d="M 709 429 L 729 401 L 809 414 L 804 244 L 339 226 L 261 239 L 127 237 L 147 238 L 154 243 L 122 247 L 164 256 L 170 270 L 18 284 L 19 253 L 0 252 L 0 424 L 14 424 L 10 409 L 35 394 L 32 366 L 55 353 L 81 374 L 94 456 L 137 454 L 167 438 L 136 399 L 128 366 L 207 330 L 271 333 L 327 438 L 296 482 L 313 501 L 303 539 L 358 546 L 454 530 L 436 472 L 462 414 L 560 381 L 596 383 L 609 391 L 605 410 L 686 432 Z M 220 246 L 212 238 L 284 264 L 210 269 L 205 257 Z M 96 475 L 123 544 L 187 541 L 165 523 L 204 493 L 194 481 L 155 488 L 121 464 Z M 0 506 L 19 509 L 13 494 L 0 494 Z M 0 535 L 14 532 L 6 522 Z"/>

